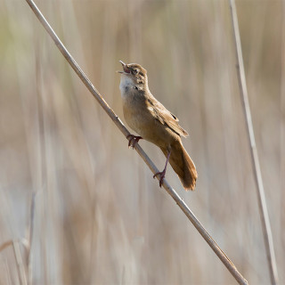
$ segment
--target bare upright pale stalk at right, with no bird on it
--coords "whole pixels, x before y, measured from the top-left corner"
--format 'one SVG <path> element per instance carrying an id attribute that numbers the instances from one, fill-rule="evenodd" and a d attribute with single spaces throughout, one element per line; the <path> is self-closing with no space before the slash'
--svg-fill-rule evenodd
<path id="1" fill-rule="evenodd" d="M 259 208 L 259 214 L 261 218 L 262 230 L 263 230 L 263 235 L 264 235 L 264 240 L 265 240 L 265 250 L 266 250 L 266 255 L 267 255 L 271 283 L 275 285 L 277 284 L 277 281 L 278 281 L 278 273 L 277 273 L 276 259 L 275 259 L 274 248 L 273 248 L 273 234 L 271 231 L 270 220 L 269 220 L 268 211 L 266 207 L 264 183 L 262 180 L 260 164 L 259 164 L 258 155 L 257 155 L 256 139 L 255 139 L 251 112 L 250 112 L 249 102 L 248 102 L 248 88 L 247 88 L 246 76 L 245 76 L 243 59 L 242 59 L 239 22 L 238 22 L 235 1 L 229 0 L 229 4 L 231 7 L 231 12 L 232 12 L 232 29 L 233 29 L 233 37 L 235 41 L 237 73 L 238 73 L 239 86 L 240 86 L 240 96 L 242 100 L 243 110 L 244 110 L 244 114 L 246 117 L 246 123 L 247 123 L 247 129 L 248 129 L 248 142 L 250 145 L 251 161 L 252 161 L 252 165 L 254 168 L 254 175 L 255 175 L 255 181 L 256 181 L 258 208 Z"/>

